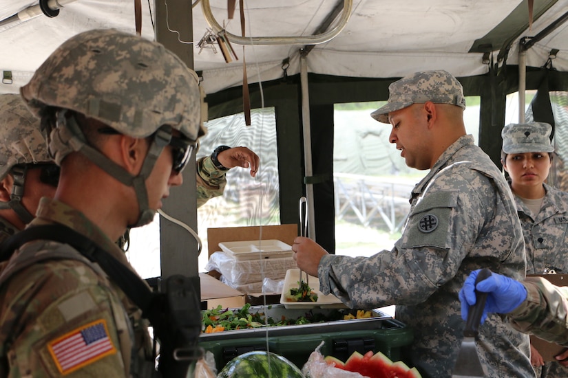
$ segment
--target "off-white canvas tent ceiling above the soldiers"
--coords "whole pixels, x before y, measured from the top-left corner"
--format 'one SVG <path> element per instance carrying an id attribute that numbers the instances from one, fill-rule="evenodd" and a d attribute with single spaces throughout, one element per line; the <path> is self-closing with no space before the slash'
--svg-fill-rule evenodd
<path id="1" fill-rule="evenodd" d="M 167 0 L 165 1 L 167 4 Z M 195 1 L 195 0 L 194 0 Z M 239 9 L 227 19 L 227 1 L 210 0 L 211 12 L 227 31 L 240 35 Z M 238 3 L 238 2 L 237 2 Z M 247 0 L 247 36 L 308 36 L 335 8 L 336 1 Z M 339 1 L 343 3 L 343 0 Z M 0 20 L 37 1 L 1 0 Z M 168 9 L 175 12 L 175 9 Z M 494 58 L 508 47 L 507 64 L 516 64 L 520 37 L 535 36 L 568 12 L 568 0 L 534 0 L 534 23 L 528 30 L 527 0 L 353 0 L 350 19 L 341 33 L 316 45 L 308 54 L 308 69 L 317 74 L 347 77 L 399 77 L 419 69 L 447 69 L 456 76 L 487 72 L 483 52 Z M 154 2 L 143 1 L 143 36 L 154 38 Z M 114 27 L 134 33 L 132 0 L 76 0 L 67 3 L 59 16 L 37 16 L 28 21 L 0 22 L 0 69 L 12 71 L 12 84 L 0 84 L 0 93 L 16 92 L 32 72 L 65 39 L 98 27 Z M 332 23 L 334 27 L 336 23 Z M 193 8 L 193 41 L 200 41 L 209 25 L 202 5 Z M 568 28 L 560 25 L 527 52 L 527 65 L 545 64 L 551 49 L 558 49 L 554 67 L 568 71 Z M 191 42 L 191 41 L 184 41 Z M 487 46 L 490 45 L 490 48 Z M 282 60 L 289 58 L 287 74 L 299 72 L 297 45 L 245 47 L 249 83 L 282 77 Z M 208 93 L 240 85 L 242 46 L 233 43 L 240 60 L 224 62 L 219 48 L 195 49 L 194 67 L 203 71 Z M 6 80 L 4 80 L 6 81 Z"/>

